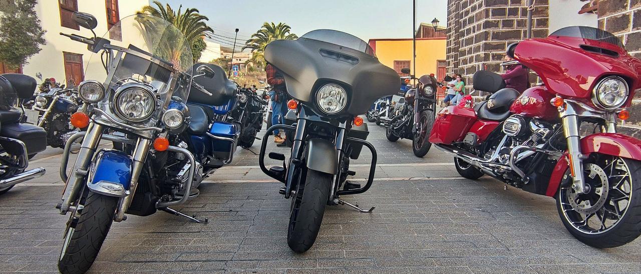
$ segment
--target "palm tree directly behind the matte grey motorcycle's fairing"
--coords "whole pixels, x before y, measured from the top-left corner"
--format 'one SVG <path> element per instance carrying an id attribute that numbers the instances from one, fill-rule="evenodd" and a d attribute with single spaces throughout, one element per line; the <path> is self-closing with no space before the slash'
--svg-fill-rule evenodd
<path id="1" fill-rule="evenodd" d="M 265 46 L 273 40 L 294 40 L 298 38 L 294 33 L 290 33 L 292 28 L 282 22 L 278 25 L 274 22 L 264 22 L 263 26 L 256 31 L 246 42 L 242 50 L 250 49 L 252 52 L 251 60 L 254 63 L 264 65 Z"/>

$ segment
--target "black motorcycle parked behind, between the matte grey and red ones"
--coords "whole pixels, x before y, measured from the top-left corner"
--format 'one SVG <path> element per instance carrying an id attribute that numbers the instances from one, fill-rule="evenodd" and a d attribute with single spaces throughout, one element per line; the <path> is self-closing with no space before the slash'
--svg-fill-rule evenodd
<path id="1" fill-rule="evenodd" d="M 401 71 L 410 73 L 409 68 L 403 68 Z M 437 108 L 436 92 L 441 84 L 429 75 L 421 76 L 420 79 L 410 77 L 418 80 L 417 86 L 405 93 L 404 104 L 397 104 L 394 117 L 385 122 L 385 137 L 389 141 L 397 141 L 399 138 L 411 139 L 414 155 L 423 157 L 431 147 L 428 138 Z M 452 79 L 445 76 L 445 81 Z"/>

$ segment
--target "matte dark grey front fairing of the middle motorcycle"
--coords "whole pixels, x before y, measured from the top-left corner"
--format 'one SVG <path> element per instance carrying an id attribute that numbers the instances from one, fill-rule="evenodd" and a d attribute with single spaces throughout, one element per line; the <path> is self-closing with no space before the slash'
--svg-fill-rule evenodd
<path id="1" fill-rule="evenodd" d="M 360 115 L 372 102 L 398 91 L 398 74 L 365 52 L 299 38 L 276 40 L 265 47 L 265 60 L 283 72 L 287 93 L 302 102 L 315 101 L 315 89 L 338 83 L 348 93 L 344 113 Z"/>

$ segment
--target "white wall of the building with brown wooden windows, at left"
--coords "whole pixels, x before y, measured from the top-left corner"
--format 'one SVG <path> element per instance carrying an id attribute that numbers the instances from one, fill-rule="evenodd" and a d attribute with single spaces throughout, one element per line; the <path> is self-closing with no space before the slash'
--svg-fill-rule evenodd
<path id="1" fill-rule="evenodd" d="M 149 4 L 147 0 L 121 0 L 118 1 L 120 18 L 133 15 L 141 10 L 143 6 Z M 91 31 L 80 28 L 80 30 L 65 28 L 60 26 L 60 8 L 58 1 L 40 0 L 35 7 L 38 19 L 43 29 L 47 31 L 44 38 L 47 40 L 46 45 L 40 46 L 42 49 L 38 54 L 31 56 L 28 64 L 24 65 L 22 72 L 32 77 L 40 72 L 43 79 L 54 77 L 56 81 L 63 83 L 65 79 L 65 65 L 63 60 L 63 51 L 83 55 L 83 70 L 86 72 L 86 66 L 92 56 L 92 52 L 87 50 L 87 45 L 60 35 L 59 33 L 75 33 L 85 37 L 93 37 Z M 91 13 L 98 20 L 98 26 L 94 31 L 96 35 L 103 36 L 107 32 L 107 12 L 104 1 L 78 1 L 78 11 Z M 126 29 L 122 29 L 122 35 L 126 35 Z M 96 57 L 97 58 L 97 57 Z M 94 58 L 94 59 L 96 59 Z M 89 76 L 85 77 L 88 79 Z M 97 79 L 104 81 L 104 79 Z M 36 78 L 38 83 L 40 79 Z"/>

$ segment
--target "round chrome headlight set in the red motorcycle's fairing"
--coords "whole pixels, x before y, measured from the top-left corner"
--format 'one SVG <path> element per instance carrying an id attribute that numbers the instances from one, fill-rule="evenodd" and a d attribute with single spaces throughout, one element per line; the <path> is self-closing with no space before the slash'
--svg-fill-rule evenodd
<path id="1" fill-rule="evenodd" d="M 606 77 L 595 86 L 592 102 L 595 106 L 612 110 L 628 101 L 628 83 L 618 76 Z"/>

